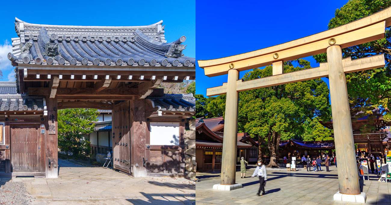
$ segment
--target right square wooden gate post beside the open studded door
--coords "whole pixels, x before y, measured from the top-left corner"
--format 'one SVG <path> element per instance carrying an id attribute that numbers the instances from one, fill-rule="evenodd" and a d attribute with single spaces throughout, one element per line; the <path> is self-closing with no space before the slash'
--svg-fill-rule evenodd
<path id="1" fill-rule="evenodd" d="M 130 103 L 131 107 L 131 164 L 132 176 L 147 176 L 145 154 L 145 135 L 148 132 L 147 122 L 145 119 L 145 99 L 135 99 Z"/>

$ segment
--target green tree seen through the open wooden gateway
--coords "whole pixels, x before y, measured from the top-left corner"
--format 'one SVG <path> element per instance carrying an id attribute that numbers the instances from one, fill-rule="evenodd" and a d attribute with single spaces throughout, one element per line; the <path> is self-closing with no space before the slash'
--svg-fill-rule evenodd
<path id="1" fill-rule="evenodd" d="M 61 109 L 58 111 L 58 147 L 74 156 L 90 154 L 90 142 L 83 135 L 93 132 L 97 109 Z"/>

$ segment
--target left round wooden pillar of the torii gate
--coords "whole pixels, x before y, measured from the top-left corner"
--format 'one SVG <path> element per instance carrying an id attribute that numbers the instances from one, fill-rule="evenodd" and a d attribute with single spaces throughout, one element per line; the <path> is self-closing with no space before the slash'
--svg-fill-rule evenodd
<path id="1" fill-rule="evenodd" d="M 228 71 L 221 162 L 221 184 L 224 185 L 235 184 L 239 100 L 238 92 L 236 91 L 236 81 L 238 79 L 238 70 L 231 69 Z"/>

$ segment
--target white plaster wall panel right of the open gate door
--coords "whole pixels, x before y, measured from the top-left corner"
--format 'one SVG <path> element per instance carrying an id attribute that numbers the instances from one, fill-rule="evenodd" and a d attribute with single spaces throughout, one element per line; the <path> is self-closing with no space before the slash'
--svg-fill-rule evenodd
<path id="1" fill-rule="evenodd" d="M 151 122 L 151 145 L 179 145 L 179 123 Z"/>

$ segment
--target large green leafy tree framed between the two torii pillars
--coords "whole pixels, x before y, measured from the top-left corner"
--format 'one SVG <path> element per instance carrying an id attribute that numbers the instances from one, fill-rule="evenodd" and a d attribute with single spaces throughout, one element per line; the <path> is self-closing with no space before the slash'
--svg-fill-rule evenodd
<path id="1" fill-rule="evenodd" d="M 310 62 L 303 59 L 284 63 L 284 73 L 308 68 Z M 243 79 L 268 77 L 272 72 L 272 66 L 256 68 L 246 73 Z M 268 166 L 277 166 L 280 140 L 302 136 L 307 119 L 316 116 L 330 120 L 328 93 L 328 87 L 321 79 L 240 92 L 239 130 L 258 136 L 261 144 L 265 142 L 271 155 Z"/>

